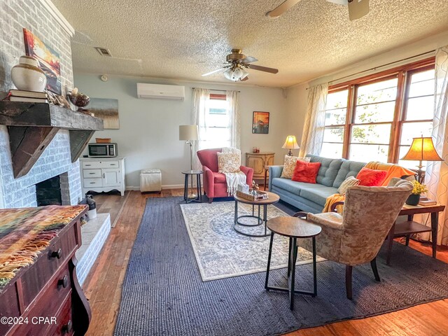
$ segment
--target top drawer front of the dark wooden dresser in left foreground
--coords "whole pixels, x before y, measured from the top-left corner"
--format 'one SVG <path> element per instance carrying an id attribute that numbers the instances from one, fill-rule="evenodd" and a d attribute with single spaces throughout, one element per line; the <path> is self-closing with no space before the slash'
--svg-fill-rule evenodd
<path id="1" fill-rule="evenodd" d="M 22 275 L 23 301 L 25 307 L 34 300 L 52 274 L 68 269 L 67 262 L 77 248 L 75 225 L 43 251 L 43 255 Z M 59 256 L 59 258 L 58 258 Z M 68 272 L 68 271 L 67 271 Z M 70 279 L 69 279 L 70 280 Z"/>

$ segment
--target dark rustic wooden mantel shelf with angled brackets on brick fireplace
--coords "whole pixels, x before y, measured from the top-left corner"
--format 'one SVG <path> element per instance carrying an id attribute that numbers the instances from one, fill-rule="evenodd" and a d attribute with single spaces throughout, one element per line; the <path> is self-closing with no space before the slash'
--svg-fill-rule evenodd
<path id="1" fill-rule="evenodd" d="M 0 101 L 0 125 L 8 126 L 14 177 L 25 176 L 59 130 L 69 130 L 75 162 L 103 120 L 46 103 Z"/>

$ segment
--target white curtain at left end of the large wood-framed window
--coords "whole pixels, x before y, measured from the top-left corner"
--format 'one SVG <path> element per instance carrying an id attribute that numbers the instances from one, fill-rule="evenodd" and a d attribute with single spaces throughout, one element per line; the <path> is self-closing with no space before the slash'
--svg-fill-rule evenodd
<path id="1" fill-rule="evenodd" d="M 307 116 L 300 143 L 299 156 L 319 155 L 322 149 L 325 126 L 325 105 L 327 104 L 328 84 L 309 87 Z"/>

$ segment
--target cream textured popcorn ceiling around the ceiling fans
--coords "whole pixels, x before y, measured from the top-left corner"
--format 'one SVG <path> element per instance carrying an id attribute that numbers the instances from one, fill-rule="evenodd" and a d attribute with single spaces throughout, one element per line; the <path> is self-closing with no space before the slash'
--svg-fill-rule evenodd
<path id="1" fill-rule="evenodd" d="M 370 0 L 349 21 L 345 6 L 302 0 L 52 0 L 76 29 L 75 71 L 229 83 L 218 69 L 231 48 L 279 73 L 249 70 L 252 85 L 286 87 L 448 29 L 447 0 Z M 102 57 L 94 46 L 109 48 Z M 243 85 L 244 85 L 243 83 Z"/>

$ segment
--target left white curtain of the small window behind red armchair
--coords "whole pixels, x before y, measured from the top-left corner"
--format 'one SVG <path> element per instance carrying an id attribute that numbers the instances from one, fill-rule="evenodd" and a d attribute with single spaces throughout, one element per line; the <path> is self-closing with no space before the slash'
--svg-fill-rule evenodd
<path id="1" fill-rule="evenodd" d="M 197 130 L 199 134 L 199 140 L 195 141 L 193 147 L 193 153 L 204 149 L 204 139 L 207 139 L 207 100 L 209 100 L 210 92 L 207 89 L 201 89 L 195 87 L 193 89 L 193 110 L 192 110 L 192 120 L 193 125 L 197 125 Z M 202 169 L 202 166 L 194 155 L 193 169 Z"/>

